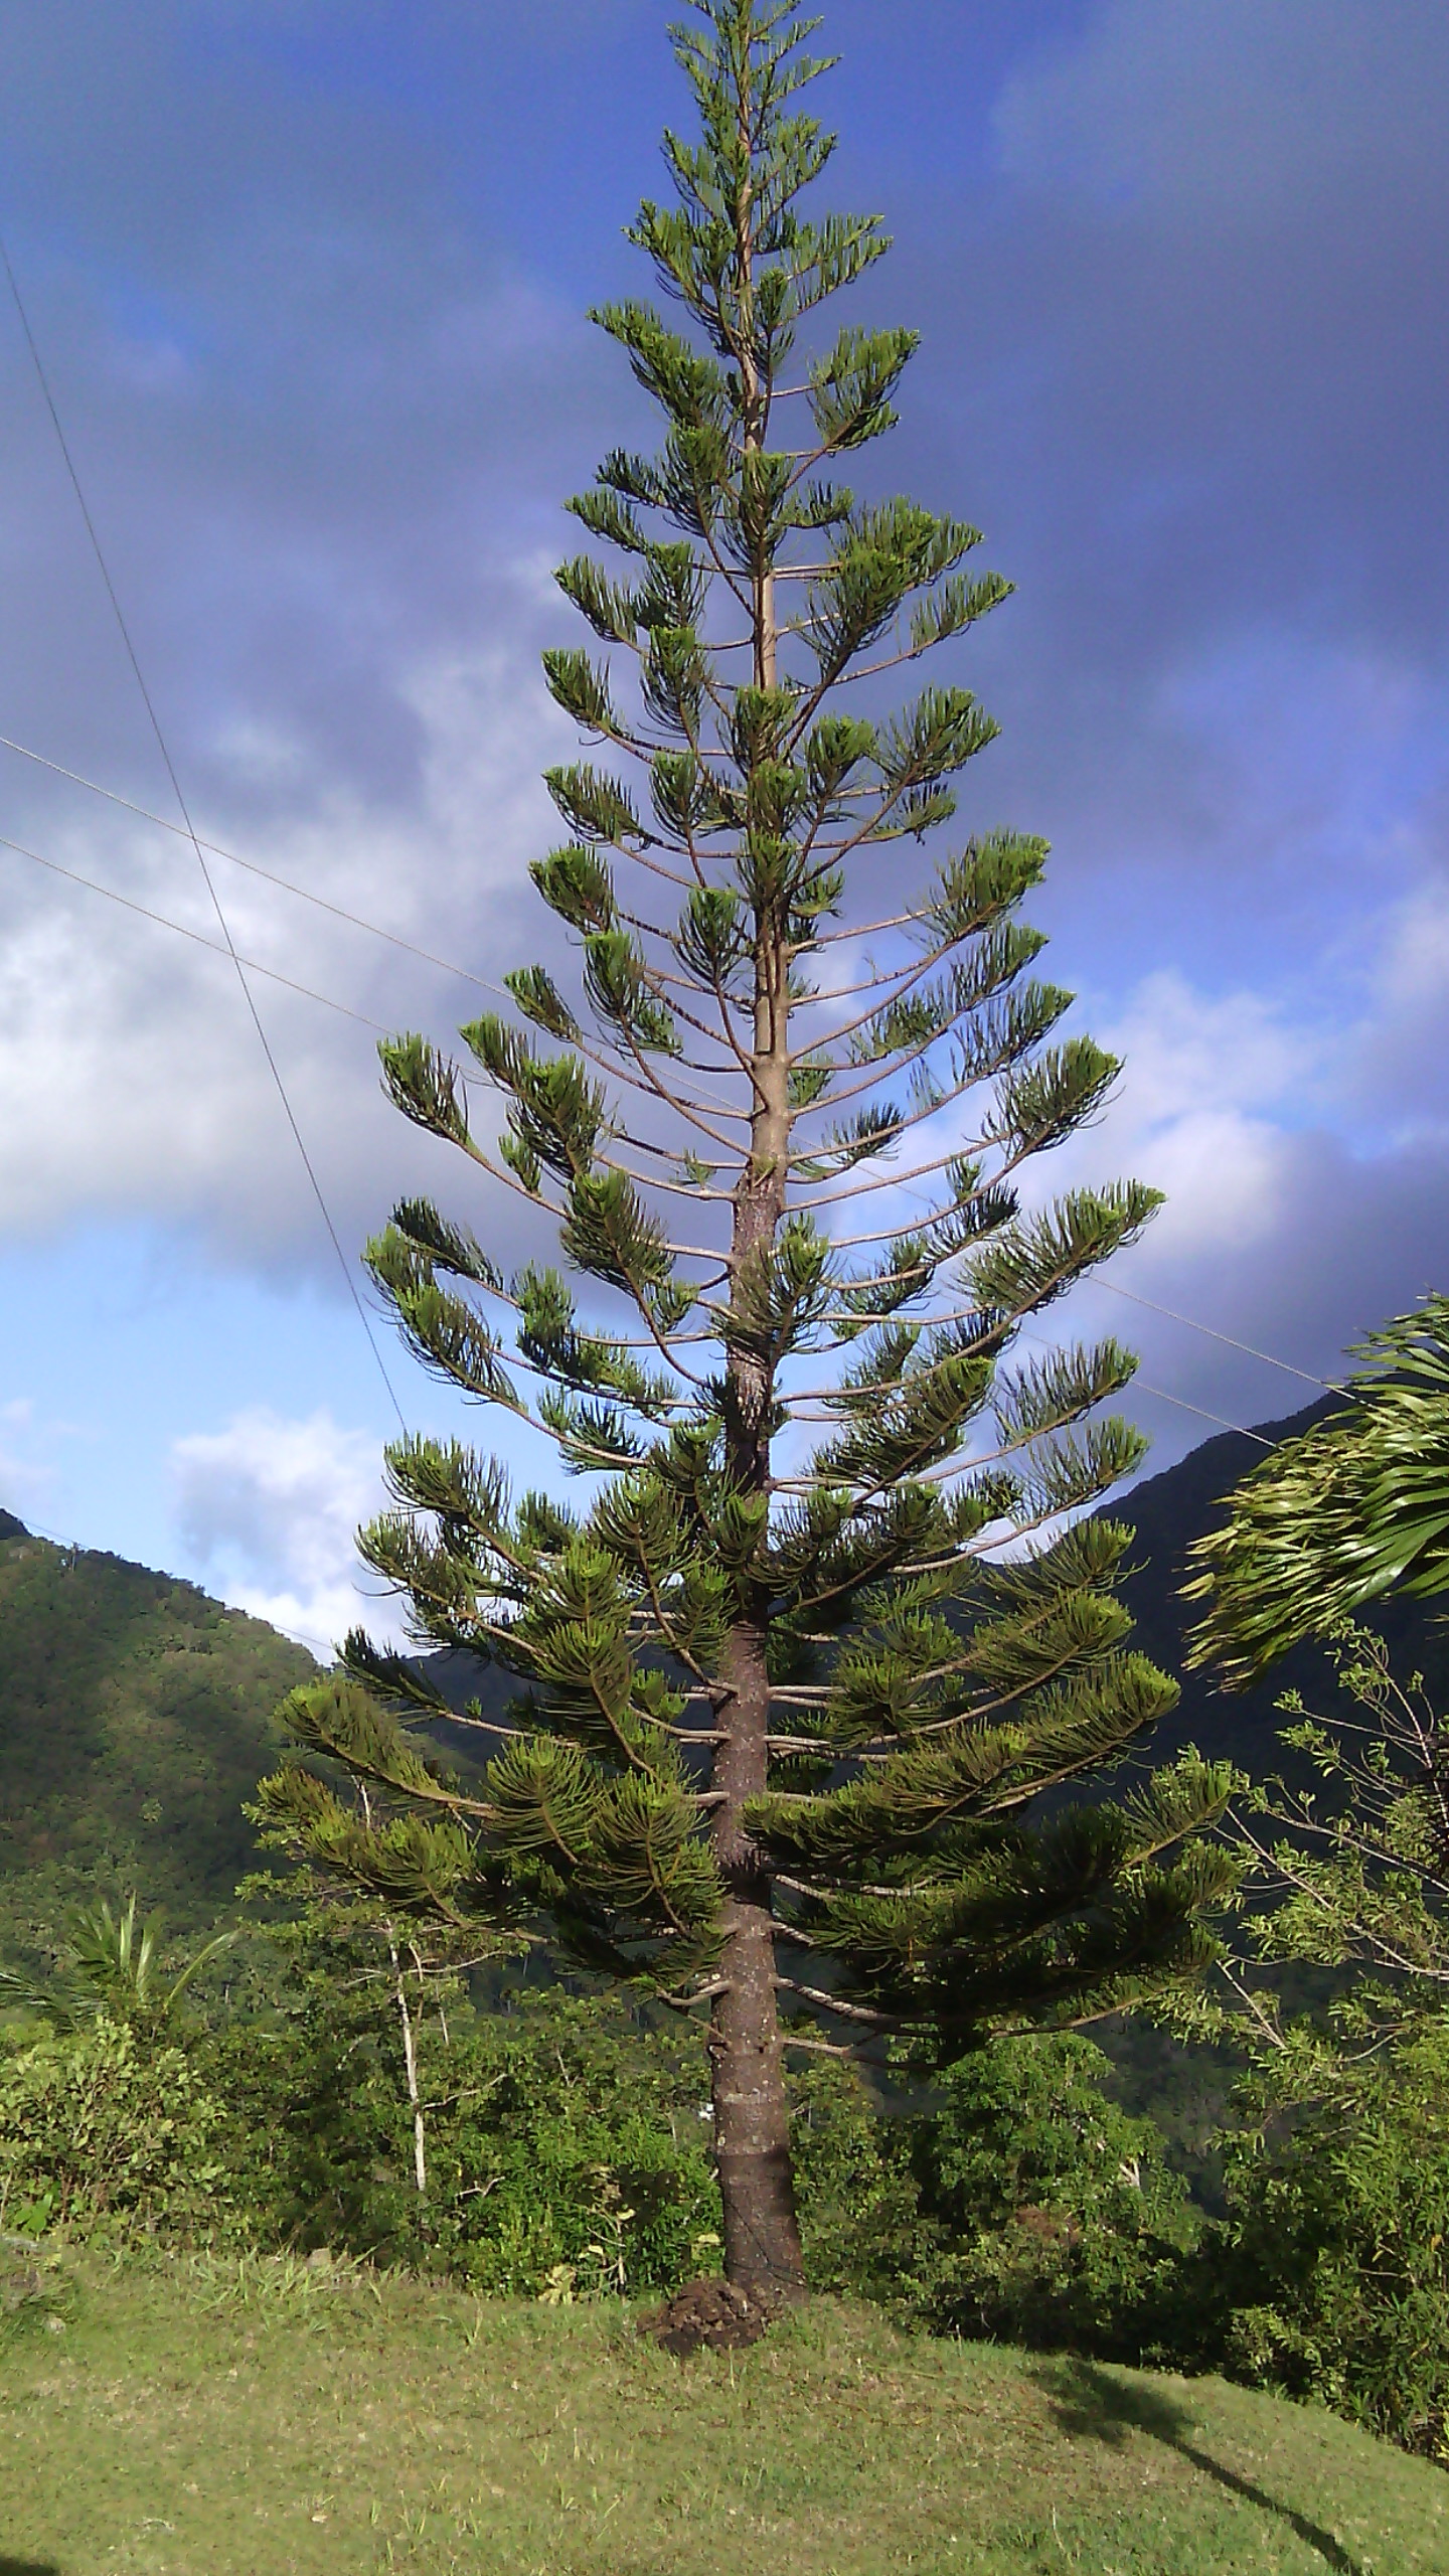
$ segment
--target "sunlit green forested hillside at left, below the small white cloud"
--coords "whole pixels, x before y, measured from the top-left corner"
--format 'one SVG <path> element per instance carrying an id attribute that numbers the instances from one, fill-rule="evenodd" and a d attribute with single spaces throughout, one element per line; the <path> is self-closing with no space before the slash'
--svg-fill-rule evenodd
<path id="1" fill-rule="evenodd" d="M 263 1620 L 121 1556 L 0 1538 L 0 1909 L 139 1888 L 211 1922 L 255 1842 L 242 1819 L 273 1708 L 317 1667 Z"/>

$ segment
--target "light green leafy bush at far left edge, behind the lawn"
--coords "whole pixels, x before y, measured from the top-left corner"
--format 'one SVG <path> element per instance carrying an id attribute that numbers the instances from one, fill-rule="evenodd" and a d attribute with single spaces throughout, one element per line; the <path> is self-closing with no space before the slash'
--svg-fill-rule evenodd
<path id="1" fill-rule="evenodd" d="M 193 2061 L 121 2022 L 0 2058 L 0 2226 L 217 2236 L 235 2226 L 224 2112 Z"/>

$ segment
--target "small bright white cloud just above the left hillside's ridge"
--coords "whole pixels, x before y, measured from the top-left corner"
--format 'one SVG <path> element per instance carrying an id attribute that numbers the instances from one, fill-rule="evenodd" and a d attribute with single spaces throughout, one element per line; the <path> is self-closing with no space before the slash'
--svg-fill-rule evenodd
<path id="1" fill-rule="evenodd" d="M 250 1406 L 222 1432 L 175 1440 L 170 1455 L 180 1535 L 217 1569 L 227 1602 L 320 1649 L 358 1623 L 394 1633 L 356 1553 L 356 1528 L 382 1502 L 371 1432 L 327 1412 L 284 1422 Z"/>

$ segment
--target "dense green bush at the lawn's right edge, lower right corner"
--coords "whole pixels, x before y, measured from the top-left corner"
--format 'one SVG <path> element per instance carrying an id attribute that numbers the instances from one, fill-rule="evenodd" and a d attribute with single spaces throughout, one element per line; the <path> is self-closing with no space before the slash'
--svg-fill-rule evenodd
<path id="1" fill-rule="evenodd" d="M 1449 2030 L 1227 2146 L 1207 2360 L 1449 2460 Z"/>

